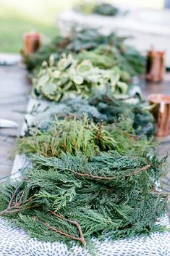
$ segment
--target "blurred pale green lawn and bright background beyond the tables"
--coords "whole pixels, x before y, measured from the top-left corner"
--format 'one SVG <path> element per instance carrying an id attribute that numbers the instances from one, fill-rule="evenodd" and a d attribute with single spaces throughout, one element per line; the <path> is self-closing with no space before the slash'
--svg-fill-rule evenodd
<path id="1" fill-rule="evenodd" d="M 30 30 L 43 33 L 48 37 L 56 35 L 59 32 L 55 26 L 57 14 L 82 1 L 0 0 L 0 52 L 20 51 L 22 35 Z M 116 2 L 158 9 L 163 7 L 163 0 L 119 0 Z"/>

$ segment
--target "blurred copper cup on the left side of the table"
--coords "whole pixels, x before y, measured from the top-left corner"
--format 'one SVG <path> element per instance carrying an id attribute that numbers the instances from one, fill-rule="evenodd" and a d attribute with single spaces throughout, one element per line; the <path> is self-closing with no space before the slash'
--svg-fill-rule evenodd
<path id="1" fill-rule="evenodd" d="M 38 33 L 30 32 L 24 35 L 24 49 L 25 53 L 33 53 L 41 46 L 41 36 Z"/>

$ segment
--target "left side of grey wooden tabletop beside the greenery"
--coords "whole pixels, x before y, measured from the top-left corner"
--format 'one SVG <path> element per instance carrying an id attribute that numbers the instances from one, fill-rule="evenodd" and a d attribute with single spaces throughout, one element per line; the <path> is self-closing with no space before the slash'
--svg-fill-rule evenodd
<path id="1" fill-rule="evenodd" d="M 1 55 L 0 55 L 1 59 Z M 27 107 L 27 95 L 30 85 L 26 70 L 18 63 L 12 66 L 0 66 L 0 118 L 17 122 L 19 128 L 0 128 L 0 181 L 12 170 L 13 160 L 9 160 L 14 149 L 15 138 L 20 134 Z"/>

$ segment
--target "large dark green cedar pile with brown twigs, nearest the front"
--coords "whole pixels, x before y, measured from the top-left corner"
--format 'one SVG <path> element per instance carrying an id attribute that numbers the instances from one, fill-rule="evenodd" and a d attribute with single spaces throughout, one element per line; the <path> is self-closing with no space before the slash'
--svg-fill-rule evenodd
<path id="1" fill-rule="evenodd" d="M 156 220 L 167 197 L 156 189 L 166 159 L 148 154 L 81 152 L 60 158 L 32 155 L 22 181 L 1 187 L 0 215 L 44 241 L 118 239 L 163 231 Z"/>

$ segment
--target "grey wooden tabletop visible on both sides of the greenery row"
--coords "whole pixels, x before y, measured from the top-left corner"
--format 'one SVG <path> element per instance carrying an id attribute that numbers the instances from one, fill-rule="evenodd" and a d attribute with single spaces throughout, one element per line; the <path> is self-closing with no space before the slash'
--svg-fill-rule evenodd
<path id="1" fill-rule="evenodd" d="M 20 135 L 21 132 L 30 83 L 27 79 L 27 71 L 20 62 L 12 66 L 0 66 L 0 77 L 0 118 L 13 120 L 19 124 L 17 129 L 0 129 L 0 181 L 4 181 L 4 177 L 9 176 L 12 170 L 13 160 L 9 157 L 12 150 L 14 154 L 14 136 Z M 162 83 L 142 83 L 141 88 L 145 98 L 154 93 L 170 94 L 170 74 L 166 74 Z M 169 138 L 163 140 L 158 151 L 161 155 L 170 153 Z M 167 177 L 170 179 L 170 171 Z"/>

